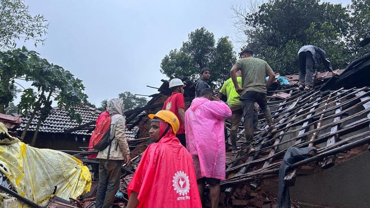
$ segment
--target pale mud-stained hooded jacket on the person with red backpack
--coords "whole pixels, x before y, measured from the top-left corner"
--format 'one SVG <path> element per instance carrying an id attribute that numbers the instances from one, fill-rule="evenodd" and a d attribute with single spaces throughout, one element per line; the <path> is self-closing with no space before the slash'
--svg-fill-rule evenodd
<path id="1" fill-rule="evenodd" d="M 126 133 L 125 133 L 125 115 L 124 115 L 124 107 L 122 100 L 118 100 L 114 98 L 108 101 L 107 110 L 110 115 L 115 114 L 112 116 L 111 120 L 111 138 L 115 136 L 114 140 L 112 141 L 111 152 L 109 156 L 109 160 L 125 160 L 125 155 L 130 153 L 128 148 L 128 143 L 126 140 Z M 98 152 L 99 159 L 107 159 L 108 149 L 105 148 L 103 151 Z"/>

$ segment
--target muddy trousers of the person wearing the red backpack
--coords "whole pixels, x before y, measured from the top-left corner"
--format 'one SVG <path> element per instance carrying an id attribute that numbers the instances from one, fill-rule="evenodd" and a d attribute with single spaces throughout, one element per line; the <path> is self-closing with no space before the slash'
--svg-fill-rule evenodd
<path id="1" fill-rule="evenodd" d="M 120 187 L 122 161 L 109 160 L 107 166 L 105 166 L 106 160 L 98 160 L 99 184 L 96 192 L 95 208 L 110 208 Z"/>

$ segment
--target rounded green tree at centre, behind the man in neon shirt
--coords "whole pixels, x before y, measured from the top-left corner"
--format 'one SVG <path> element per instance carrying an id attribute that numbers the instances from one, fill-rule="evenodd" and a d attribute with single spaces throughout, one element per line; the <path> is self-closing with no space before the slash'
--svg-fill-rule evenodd
<path id="1" fill-rule="evenodd" d="M 161 73 L 170 79 L 187 76 L 192 82 L 199 79 L 199 72 L 207 67 L 211 72 L 210 84 L 220 86 L 229 77 L 236 61 L 233 45 L 228 37 L 215 43 L 213 33 L 204 27 L 192 31 L 180 49 L 171 50 L 161 62 Z M 212 76 L 213 74 L 213 76 Z"/>

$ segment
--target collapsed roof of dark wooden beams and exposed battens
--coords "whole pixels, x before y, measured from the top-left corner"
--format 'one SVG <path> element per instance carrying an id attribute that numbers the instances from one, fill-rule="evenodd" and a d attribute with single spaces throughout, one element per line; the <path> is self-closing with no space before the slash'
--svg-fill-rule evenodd
<path id="1" fill-rule="evenodd" d="M 291 172 L 286 175 L 285 180 L 287 184 L 294 185 L 295 177 L 302 165 L 319 161 L 320 168 L 330 168 L 335 165 L 338 154 L 361 145 L 368 145 L 370 84 L 360 79 L 355 80 L 356 86 L 351 86 L 348 84 L 350 80 L 343 79 L 347 76 L 361 77 L 369 73 L 369 65 L 364 64 L 366 61 L 368 60 L 361 60 L 361 63 L 352 65 L 354 71 L 349 68 L 338 70 L 339 77 L 332 78 L 330 72 L 314 74 L 314 87 L 309 91 L 300 91 L 297 88 L 298 75 L 285 76 L 290 83 L 289 87 L 282 87 L 275 82 L 268 91 L 268 105 L 279 131 L 275 135 L 269 135 L 263 114 L 259 113 L 259 127 L 265 131 L 253 138 L 252 145 L 256 152 L 249 155 L 243 152 L 232 154 L 230 148 L 226 150 L 227 179 L 221 183 L 225 195 L 231 197 L 240 183 L 250 183 L 249 186 L 253 189 L 259 186 L 261 180 L 277 177 L 281 159 L 289 147 L 312 146 L 318 150 L 318 155 L 290 166 Z M 165 80 L 162 82 L 162 86 L 157 88 L 159 93 L 151 95 L 152 100 L 147 105 L 125 112 L 130 128 L 136 126 L 147 115 L 145 111 L 162 107 L 163 103 L 158 102 L 159 98 L 171 93 L 168 82 Z M 187 85 L 184 97 L 186 101 L 191 101 L 194 98 L 194 85 L 192 83 Z M 228 121 L 226 123 L 229 131 L 230 123 Z M 243 132 L 241 124 L 238 145 L 242 150 L 245 149 Z M 129 147 L 133 150 L 131 154 L 135 156 L 129 167 L 126 165 L 122 167 L 120 191 L 124 192 L 125 196 L 127 184 L 141 160 L 140 153 L 147 147 L 146 143 L 141 142 L 147 140 L 148 138 L 140 138 L 129 141 Z M 86 155 L 95 153 L 81 151 L 75 156 L 87 163 L 97 163 L 85 158 Z M 89 196 L 94 196 L 94 191 L 90 194 Z M 120 200 L 120 204 L 127 202 L 125 197 Z M 90 201 L 94 199 L 89 198 L 88 202 Z"/>

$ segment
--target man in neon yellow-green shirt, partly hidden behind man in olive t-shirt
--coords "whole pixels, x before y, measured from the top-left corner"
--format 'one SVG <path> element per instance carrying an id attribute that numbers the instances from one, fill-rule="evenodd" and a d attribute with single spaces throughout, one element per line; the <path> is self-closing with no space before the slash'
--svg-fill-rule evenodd
<path id="1" fill-rule="evenodd" d="M 236 72 L 236 78 L 238 80 L 239 87 L 242 86 L 242 72 L 239 70 Z M 232 82 L 232 79 L 229 78 L 228 80 L 223 83 L 217 97 L 222 98 L 222 95 L 226 95 L 227 97 L 227 103 L 231 109 L 232 115 L 230 118 L 230 138 L 231 138 L 231 144 L 232 144 L 232 153 L 237 153 L 239 151 L 238 146 L 236 145 L 236 136 L 239 129 L 240 120 L 243 115 L 243 109 L 242 109 L 242 102 L 240 101 L 240 95 L 235 91 L 234 83 Z M 253 112 L 253 131 L 254 133 L 259 133 L 263 131 L 263 129 L 258 128 L 258 111 L 255 108 L 255 111 Z"/>

